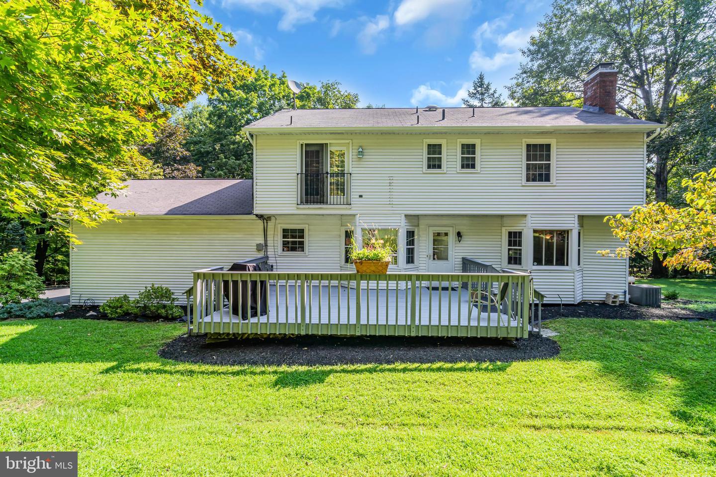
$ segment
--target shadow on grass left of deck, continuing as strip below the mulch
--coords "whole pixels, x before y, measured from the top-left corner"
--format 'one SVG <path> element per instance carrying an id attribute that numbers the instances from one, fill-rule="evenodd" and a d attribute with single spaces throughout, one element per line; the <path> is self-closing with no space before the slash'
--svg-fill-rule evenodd
<path id="1" fill-rule="evenodd" d="M 180 330 L 166 323 L 100 320 L 32 320 L 0 323 L 0 363 L 102 363 L 100 373 L 271 375 L 276 388 L 324 383 L 332 374 L 502 372 L 510 363 L 392 363 L 306 366 L 181 363 L 157 354 Z"/>

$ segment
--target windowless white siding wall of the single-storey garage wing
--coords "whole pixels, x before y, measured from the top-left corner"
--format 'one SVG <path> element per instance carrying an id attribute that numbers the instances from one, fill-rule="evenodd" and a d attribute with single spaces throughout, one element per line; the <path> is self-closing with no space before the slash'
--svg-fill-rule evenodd
<path id="1" fill-rule="evenodd" d="M 260 257 L 261 222 L 251 219 L 125 217 L 96 228 L 73 224 L 82 243 L 70 252 L 72 304 L 104 303 L 127 293 L 136 297 L 152 283 L 180 297 L 193 270 L 228 267 Z"/>

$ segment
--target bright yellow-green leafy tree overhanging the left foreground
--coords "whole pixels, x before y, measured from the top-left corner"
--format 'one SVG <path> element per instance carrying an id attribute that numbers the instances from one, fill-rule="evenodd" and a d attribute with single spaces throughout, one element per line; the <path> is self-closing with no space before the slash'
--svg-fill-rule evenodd
<path id="1" fill-rule="evenodd" d="M 185 104 L 251 69 L 189 0 L 0 2 L 0 215 L 67 232 L 112 217 L 160 104 Z"/>

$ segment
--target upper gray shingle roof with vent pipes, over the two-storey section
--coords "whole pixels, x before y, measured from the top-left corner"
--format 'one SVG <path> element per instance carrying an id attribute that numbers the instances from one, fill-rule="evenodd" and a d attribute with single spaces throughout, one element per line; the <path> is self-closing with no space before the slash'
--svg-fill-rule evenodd
<path id="1" fill-rule="evenodd" d="M 420 124 L 417 117 L 420 116 Z M 282 109 L 244 129 L 372 128 L 372 127 L 590 127 L 653 126 L 662 124 L 574 107 Z M 652 128 L 652 129 L 654 129 Z"/>

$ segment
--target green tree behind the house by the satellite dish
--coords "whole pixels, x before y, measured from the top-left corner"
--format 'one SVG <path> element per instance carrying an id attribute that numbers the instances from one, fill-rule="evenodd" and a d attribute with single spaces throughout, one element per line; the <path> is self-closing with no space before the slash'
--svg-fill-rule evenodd
<path id="1" fill-rule="evenodd" d="M 339 82 L 303 86 L 296 95 L 298 108 L 354 108 L 359 101 Z M 187 131 L 184 148 L 202 168 L 203 177 L 248 178 L 253 173 L 252 148 L 241 129 L 293 104 L 286 74 L 263 67 L 251 79 L 220 89 L 208 104 L 194 104 L 175 120 Z"/>

